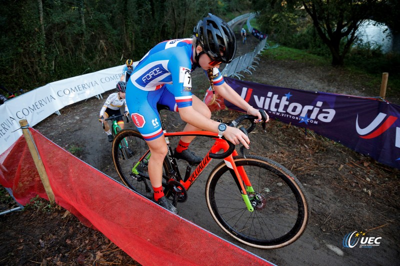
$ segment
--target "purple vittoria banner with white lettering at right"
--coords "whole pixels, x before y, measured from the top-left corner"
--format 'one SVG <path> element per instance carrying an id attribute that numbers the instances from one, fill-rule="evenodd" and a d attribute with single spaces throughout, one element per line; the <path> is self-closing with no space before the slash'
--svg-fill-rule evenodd
<path id="1" fill-rule="evenodd" d="M 312 129 L 400 169 L 400 106 L 370 98 L 224 79 L 250 105 L 264 109 L 271 118 Z M 243 111 L 224 103 L 230 109 Z"/>

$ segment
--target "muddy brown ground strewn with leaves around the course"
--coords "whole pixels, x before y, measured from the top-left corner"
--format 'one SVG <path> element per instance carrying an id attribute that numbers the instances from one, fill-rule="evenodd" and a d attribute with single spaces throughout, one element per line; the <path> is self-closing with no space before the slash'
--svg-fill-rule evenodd
<path id="1" fill-rule="evenodd" d="M 241 44 L 241 43 L 239 43 Z M 239 45 L 239 54 L 251 51 L 253 37 Z M 267 54 L 267 51 L 266 51 Z M 197 73 L 195 73 L 197 72 Z M 202 99 L 207 80 L 193 73 L 194 93 Z M 261 56 L 252 75 L 245 80 L 264 84 L 352 95 L 376 96 L 364 87 L 363 76 L 349 76 L 340 68 L 315 67 L 302 62 L 274 61 Z M 91 98 L 68 106 L 61 115 L 51 115 L 34 128 L 59 146 L 117 179 L 111 161 L 111 144 L 97 122 L 107 97 Z M 398 95 L 388 99 L 399 103 Z M 237 113 L 218 111 L 213 118 L 227 121 Z M 170 130 L 182 129 L 178 115 L 165 113 Z M 133 127 L 132 123 L 127 127 Z M 219 230 L 205 207 L 203 196 L 207 174 L 190 190 L 189 200 L 178 205 L 179 215 L 239 245 L 276 265 L 398 265 L 400 251 L 400 170 L 377 163 L 310 131 L 270 121 L 267 133 L 250 134 L 250 153 L 275 160 L 291 170 L 308 194 L 311 217 L 303 236 L 278 250 L 257 250 L 239 245 Z M 204 151 L 199 141 L 191 149 Z M 2 207 L 13 207 L 12 202 Z M 88 229 L 64 210 L 37 201 L 22 212 L 0 217 L 0 265 L 135 265 L 124 252 L 100 232 Z M 343 237 L 363 231 L 380 237 L 370 249 L 343 248 Z"/>

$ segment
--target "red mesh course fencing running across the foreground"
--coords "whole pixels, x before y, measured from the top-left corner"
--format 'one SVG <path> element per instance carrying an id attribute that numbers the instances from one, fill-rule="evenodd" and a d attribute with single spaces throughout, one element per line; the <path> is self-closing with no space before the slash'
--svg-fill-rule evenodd
<path id="1" fill-rule="evenodd" d="M 55 202 L 104 234 L 141 265 L 271 265 L 169 213 L 29 128 Z M 25 205 L 48 199 L 21 136 L 0 155 L 0 183 Z"/>

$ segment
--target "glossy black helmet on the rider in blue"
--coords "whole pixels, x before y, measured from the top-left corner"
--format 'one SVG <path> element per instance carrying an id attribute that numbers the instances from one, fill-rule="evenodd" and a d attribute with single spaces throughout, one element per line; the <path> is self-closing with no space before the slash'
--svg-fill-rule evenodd
<path id="1" fill-rule="evenodd" d="M 197 22 L 194 36 L 204 52 L 223 63 L 230 63 L 236 53 L 236 38 L 229 25 L 222 19 L 208 13 Z"/>

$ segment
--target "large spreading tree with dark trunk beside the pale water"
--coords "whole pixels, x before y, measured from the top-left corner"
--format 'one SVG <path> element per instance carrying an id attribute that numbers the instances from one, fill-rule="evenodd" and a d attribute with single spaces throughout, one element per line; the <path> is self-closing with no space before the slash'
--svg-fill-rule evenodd
<path id="1" fill-rule="evenodd" d="M 390 0 L 254 0 L 256 8 L 261 9 L 261 21 L 269 27 L 267 32 L 275 30 L 284 38 L 294 34 L 306 21 L 304 14 L 308 14 L 319 38 L 329 48 L 332 65 L 343 64 L 359 26 L 387 2 Z"/>

